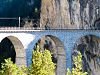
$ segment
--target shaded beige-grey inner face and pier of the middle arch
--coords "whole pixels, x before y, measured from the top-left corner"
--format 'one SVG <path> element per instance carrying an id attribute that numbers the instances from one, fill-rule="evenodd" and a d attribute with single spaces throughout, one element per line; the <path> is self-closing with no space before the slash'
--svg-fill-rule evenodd
<path id="1" fill-rule="evenodd" d="M 38 41 L 42 44 L 42 47 L 43 43 L 45 43 L 45 39 L 49 39 L 53 45 L 52 53 L 55 54 L 55 59 L 57 59 L 56 75 L 66 75 L 66 52 L 62 41 L 55 36 L 45 35 Z"/>

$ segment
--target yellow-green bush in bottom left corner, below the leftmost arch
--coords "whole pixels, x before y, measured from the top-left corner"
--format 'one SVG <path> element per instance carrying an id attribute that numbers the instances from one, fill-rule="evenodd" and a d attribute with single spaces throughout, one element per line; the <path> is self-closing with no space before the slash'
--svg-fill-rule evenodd
<path id="1" fill-rule="evenodd" d="M 0 75 L 27 75 L 25 67 L 18 67 L 11 61 L 11 58 L 5 59 L 5 63 L 2 64 Z"/>

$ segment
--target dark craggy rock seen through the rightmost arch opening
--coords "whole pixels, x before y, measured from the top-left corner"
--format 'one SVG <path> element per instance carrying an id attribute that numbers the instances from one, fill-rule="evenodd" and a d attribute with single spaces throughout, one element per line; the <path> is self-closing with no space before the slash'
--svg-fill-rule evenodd
<path id="1" fill-rule="evenodd" d="M 100 38 L 95 35 L 82 36 L 75 44 L 73 52 L 80 51 L 83 70 L 89 75 L 100 74 Z"/>

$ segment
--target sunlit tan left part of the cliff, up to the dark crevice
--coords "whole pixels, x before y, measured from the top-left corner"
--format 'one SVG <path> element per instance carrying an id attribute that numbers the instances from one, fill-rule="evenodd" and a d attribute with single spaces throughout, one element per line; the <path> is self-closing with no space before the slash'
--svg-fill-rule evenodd
<path id="1" fill-rule="evenodd" d="M 70 23 L 67 0 L 42 0 L 41 27 L 49 29 L 67 28 Z"/>

